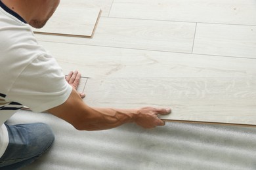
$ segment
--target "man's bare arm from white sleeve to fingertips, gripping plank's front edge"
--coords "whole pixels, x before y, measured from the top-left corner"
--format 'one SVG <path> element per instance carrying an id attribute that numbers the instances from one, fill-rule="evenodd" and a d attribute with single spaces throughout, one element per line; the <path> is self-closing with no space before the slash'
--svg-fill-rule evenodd
<path id="1" fill-rule="evenodd" d="M 86 105 L 75 90 L 72 90 L 70 97 L 62 105 L 48 111 L 79 130 L 110 129 L 128 122 L 135 122 L 145 128 L 163 126 L 165 122 L 158 118 L 158 114 L 171 112 L 170 109 L 153 107 L 141 109 L 93 108 Z"/>

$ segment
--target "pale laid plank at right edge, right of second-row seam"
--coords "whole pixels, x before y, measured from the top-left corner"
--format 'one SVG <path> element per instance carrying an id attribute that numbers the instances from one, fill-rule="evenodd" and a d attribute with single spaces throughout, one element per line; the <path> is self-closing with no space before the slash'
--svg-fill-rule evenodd
<path id="1" fill-rule="evenodd" d="M 193 53 L 256 58 L 256 26 L 198 24 Z"/>

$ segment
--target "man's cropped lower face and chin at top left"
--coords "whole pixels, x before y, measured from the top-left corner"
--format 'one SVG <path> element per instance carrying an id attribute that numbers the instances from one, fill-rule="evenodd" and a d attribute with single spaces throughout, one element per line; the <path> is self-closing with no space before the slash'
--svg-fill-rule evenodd
<path id="1" fill-rule="evenodd" d="M 60 0 L 1 0 L 32 27 L 41 28 L 51 18 Z"/>

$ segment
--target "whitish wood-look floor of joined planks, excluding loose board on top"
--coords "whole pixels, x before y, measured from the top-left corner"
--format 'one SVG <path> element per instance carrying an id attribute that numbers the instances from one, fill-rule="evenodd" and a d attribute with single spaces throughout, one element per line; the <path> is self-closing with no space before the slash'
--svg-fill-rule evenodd
<path id="1" fill-rule="evenodd" d="M 85 102 L 256 125 L 256 1 L 88 2 L 102 9 L 93 39 L 35 35 L 65 74 L 89 77 Z"/>

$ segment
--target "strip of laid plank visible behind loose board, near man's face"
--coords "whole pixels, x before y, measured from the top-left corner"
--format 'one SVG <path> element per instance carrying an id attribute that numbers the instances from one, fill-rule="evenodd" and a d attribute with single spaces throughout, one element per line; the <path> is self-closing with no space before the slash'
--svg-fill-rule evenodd
<path id="1" fill-rule="evenodd" d="M 61 0 L 64 7 L 85 7 L 86 9 L 101 9 L 100 16 L 108 16 L 113 0 Z M 79 16 L 79 14 L 78 14 Z M 77 16 L 76 16 L 77 17 Z"/>

